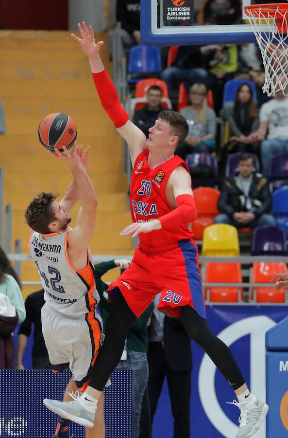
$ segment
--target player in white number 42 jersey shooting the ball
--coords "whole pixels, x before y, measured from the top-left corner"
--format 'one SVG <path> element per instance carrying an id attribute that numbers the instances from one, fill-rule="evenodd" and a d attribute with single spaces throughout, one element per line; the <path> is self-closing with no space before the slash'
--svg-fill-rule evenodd
<path id="1" fill-rule="evenodd" d="M 77 398 L 77 389 L 84 391 L 88 384 L 102 343 L 102 320 L 96 313 L 100 297 L 88 248 L 98 204 L 87 174 L 88 150 L 84 154 L 83 146 L 76 144 L 71 153 L 66 147 L 63 149 L 63 153 L 56 150 L 55 155 L 68 164 L 74 181 L 60 202 L 53 193 L 38 194 L 28 206 L 25 219 L 34 231 L 29 251 L 45 291 L 41 318 L 49 359 L 54 371 L 69 366 L 74 376 L 65 392 L 64 400 L 69 401 Z M 76 225 L 70 228 L 68 213 L 78 200 L 81 207 Z M 68 437 L 69 422 L 59 418 L 55 438 Z M 103 401 L 94 427 L 86 429 L 86 438 L 92 437 L 105 437 Z"/>

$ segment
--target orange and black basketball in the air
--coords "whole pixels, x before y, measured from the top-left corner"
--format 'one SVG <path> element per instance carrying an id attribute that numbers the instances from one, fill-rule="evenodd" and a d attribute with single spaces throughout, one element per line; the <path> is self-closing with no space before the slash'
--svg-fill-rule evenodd
<path id="1" fill-rule="evenodd" d="M 53 151 L 59 149 L 63 152 L 63 146 L 69 149 L 77 138 L 75 122 L 63 112 L 48 114 L 38 128 L 40 143 Z"/>

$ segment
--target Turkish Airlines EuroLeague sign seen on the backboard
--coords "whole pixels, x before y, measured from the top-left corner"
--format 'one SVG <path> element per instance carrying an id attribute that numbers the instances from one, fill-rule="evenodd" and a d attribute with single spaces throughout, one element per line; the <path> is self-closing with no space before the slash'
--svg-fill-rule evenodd
<path id="1" fill-rule="evenodd" d="M 194 0 L 163 0 L 163 23 L 177 26 L 194 21 Z"/>

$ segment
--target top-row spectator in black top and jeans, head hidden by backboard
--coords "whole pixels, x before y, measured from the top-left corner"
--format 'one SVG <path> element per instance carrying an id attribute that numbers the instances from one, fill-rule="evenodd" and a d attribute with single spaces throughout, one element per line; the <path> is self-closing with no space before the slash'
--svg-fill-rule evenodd
<path id="1" fill-rule="evenodd" d="M 167 83 L 169 93 L 174 82 L 184 82 L 188 91 L 195 82 L 203 82 L 208 73 L 203 68 L 202 47 L 180 46 L 171 67 L 165 69 L 161 78 Z"/>

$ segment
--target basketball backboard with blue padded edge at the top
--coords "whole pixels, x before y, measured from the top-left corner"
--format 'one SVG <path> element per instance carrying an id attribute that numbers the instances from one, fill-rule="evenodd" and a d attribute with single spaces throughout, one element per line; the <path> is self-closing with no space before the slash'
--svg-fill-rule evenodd
<path id="1" fill-rule="evenodd" d="M 264 3 L 277 1 L 141 0 L 141 41 L 150 46 L 253 43 L 243 8 Z"/>

